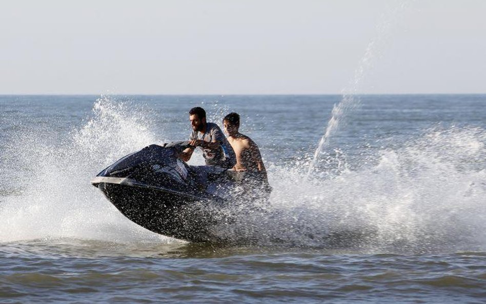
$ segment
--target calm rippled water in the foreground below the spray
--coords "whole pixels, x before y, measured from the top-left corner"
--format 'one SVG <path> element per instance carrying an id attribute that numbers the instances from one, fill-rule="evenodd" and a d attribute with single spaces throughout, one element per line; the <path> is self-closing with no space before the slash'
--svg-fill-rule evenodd
<path id="1" fill-rule="evenodd" d="M 3 302 L 471 302 L 486 254 L 57 240 L 4 244 Z M 8 263 L 5 261 L 8 259 Z"/>

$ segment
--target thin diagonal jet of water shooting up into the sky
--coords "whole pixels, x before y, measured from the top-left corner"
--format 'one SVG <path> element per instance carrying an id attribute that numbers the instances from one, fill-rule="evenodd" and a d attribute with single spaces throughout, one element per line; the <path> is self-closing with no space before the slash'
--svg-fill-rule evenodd
<path id="1" fill-rule="evenodd" d="M 327 148 L 329 148 L 330 140 L 334 134 L 346 124 L 346 117 L 350 111 L 359 108 L 360 99 L 357 95 L 362 89 L 363 79 L 368 73 L 371 73 L 375 61 L 382 55 L 384 46 L 386 46 L 391 35 L 393 25 L 398 20 L 398 15 L 407 7 L 410 0 L 402 0 L 400 3 L 390 9 L 387 13 L 381 15 L 376 27 L 377 35 L 369 43 L 365 50 L 365 54 L 361 57 L 358 68 L 354 71 L 354 76 L 347 88 L 341 91 L 341 101 L 334 105 L 331 112 L 331 119 L 329 119 L 324 135 L 319 140 L 317 149 L 309 164 L 307 178 L 313 173 L 319 156 Z"/>

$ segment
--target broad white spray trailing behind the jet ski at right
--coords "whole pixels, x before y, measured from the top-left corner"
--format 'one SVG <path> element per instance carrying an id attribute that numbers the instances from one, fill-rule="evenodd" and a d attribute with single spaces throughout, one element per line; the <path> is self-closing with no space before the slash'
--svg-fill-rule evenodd
<path id="1" fill-rule="evenodd" d="M 298 168 L 269 164 L 271 206 L 266 212 L 238 210 L 244 215 L 218 229 L 263 246 L 481 251 L 485 146 L 481 128 L 435 127 L 400 147 L 378 151 L 369 166 L 333 179 L 305 180 Z"/>

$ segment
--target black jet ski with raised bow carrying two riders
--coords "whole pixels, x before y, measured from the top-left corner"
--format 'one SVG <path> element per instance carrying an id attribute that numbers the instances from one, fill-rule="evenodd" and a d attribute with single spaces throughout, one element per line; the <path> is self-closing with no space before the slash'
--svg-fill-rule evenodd
<path id="1" fill-rule="evenodd" d="M 189 166 L 178 158 L 189 147 L 188 141 L 150 145 L 120 158 L 91 184 L 128 219 L 152 232 L 195 242 L 225 242 L 218 226 L 233 220 L 228 207 L 248 206 L 249 198 L 261 206 L 271 188 L 258 173 Z"/>

